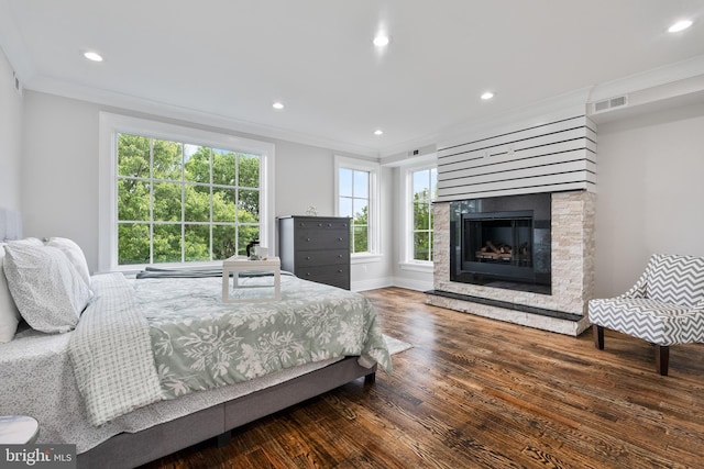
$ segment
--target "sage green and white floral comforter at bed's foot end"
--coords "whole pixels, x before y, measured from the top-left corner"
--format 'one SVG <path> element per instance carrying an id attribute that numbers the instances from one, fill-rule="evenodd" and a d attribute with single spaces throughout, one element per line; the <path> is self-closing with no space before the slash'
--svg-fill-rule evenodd
<path id="1" fill-rule="evenodd" d="M 391 372 L 376 314 L 363 295 L 282 276 L 280 301 L 223 303 L 221 282 L 134 281 L 165 399 L 343 356 L 359 355 L 361 365 L 376 362 Z M 240 280 L 245 286 L 271 282 L 271 277 Z M 234 293 L 256 298 L 271 289 Z"/>

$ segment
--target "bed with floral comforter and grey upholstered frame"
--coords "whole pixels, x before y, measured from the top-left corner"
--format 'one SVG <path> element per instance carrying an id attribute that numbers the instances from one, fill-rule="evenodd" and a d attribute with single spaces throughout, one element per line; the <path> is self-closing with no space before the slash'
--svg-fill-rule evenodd
<path id="1" fill-rule="evenodd" d="M 18 249 L 4 250 L 7 273 Z M 224 443 L 232 428 L 373 381 L 377 366 L 391 371 L 375 312 L 358 293 L 289 275 L 280 301 L 223 304 L 218 277 L 89 281 L 67 332 L 21 322 L 0 344 L 0 414 L 37 418 L 40 444 L 76 444 L 79 467 L 135 467 L 212 437 Z"/>

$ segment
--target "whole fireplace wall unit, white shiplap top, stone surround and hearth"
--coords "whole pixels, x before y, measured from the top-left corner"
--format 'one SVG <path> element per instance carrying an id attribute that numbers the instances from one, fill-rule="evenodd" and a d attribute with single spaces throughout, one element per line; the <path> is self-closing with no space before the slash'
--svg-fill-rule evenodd
<path id="1" fill-rule="evenodd" d="M 588 327 L 596 125 L 576 110 L 439 145 L 430 304 L 570 335 Z"/>

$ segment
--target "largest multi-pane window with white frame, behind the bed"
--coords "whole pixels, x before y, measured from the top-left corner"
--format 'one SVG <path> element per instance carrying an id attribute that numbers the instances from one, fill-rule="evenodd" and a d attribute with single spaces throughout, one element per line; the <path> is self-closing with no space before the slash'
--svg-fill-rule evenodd
<path id="1" fill-rule="evenodd" d="M 271 246 L 271 144 L 101 114 L 100 269 L 222 260 L 254 239 Z"/>

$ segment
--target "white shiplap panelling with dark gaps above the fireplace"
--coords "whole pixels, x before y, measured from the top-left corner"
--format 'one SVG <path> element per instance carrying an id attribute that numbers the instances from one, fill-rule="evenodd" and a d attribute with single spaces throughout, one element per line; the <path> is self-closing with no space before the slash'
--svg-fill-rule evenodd
<path id="1" fill-rule="evenodd" d="M 596 190 L 596 125 L 565 119 L 440 148 L 438 201 Z"/>

